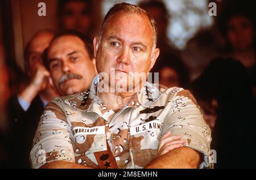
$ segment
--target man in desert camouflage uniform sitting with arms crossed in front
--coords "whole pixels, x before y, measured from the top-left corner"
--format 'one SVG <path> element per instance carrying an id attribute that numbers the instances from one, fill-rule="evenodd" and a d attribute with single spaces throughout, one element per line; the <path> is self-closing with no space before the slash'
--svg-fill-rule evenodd
<path id="1" fill-rule="evenodd" d="M 124 80 L 136 78 L 130 72 L 147 74 L 159 55 L 146 11 L 127 3 L 112 7 L 94 38 L 94 55 L 100 74 L 90 89 L 56 98 L 45 109 L 32 168 L 209 167 L 210 128 L 191 93 L 146 78 L 132 85 Z M 133 91 L 119 91 L 113 82 Z"/>

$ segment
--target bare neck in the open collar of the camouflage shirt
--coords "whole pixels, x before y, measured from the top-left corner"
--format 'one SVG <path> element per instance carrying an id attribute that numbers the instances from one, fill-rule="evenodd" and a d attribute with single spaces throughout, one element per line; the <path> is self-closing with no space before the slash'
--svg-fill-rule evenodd
<path id="1" fill-rule="evenodd" d="M 122 109 L 127 102 L 131 100 L 131 98 L 137 92 L 127 92 L 127 93 L 112 93 L 112 92 L 100 92 L 98 93 L 98 97 L 100 97 L 101 101 L 108 106 L 111 110 L 119 110 Z"/>

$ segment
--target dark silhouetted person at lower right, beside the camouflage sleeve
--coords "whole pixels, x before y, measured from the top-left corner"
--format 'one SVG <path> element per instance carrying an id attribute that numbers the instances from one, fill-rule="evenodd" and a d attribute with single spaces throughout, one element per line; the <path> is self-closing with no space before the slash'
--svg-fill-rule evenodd
<path id="1" fill-rule="evenodd" d="M 217 57 L 192 83 L 205 121 L 212 128 L 214 168 L 255 168 L 255 104 L 246 68 Z"/>

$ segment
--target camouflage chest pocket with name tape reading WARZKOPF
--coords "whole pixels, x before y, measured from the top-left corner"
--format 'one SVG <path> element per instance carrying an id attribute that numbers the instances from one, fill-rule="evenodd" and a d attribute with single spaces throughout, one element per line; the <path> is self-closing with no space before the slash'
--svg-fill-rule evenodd
<path id="1" fill-rule="evenodd" d="M 75 144 L 74 151 L 77 155 L 87 155 L 89 153 L 106 151 L 105 126 L 99 126 L 98 131 L 93 131 L 97 127 L 76 127 L 81 131 L 74 131 Z M 77 132 L 77 133 L 76 133 Z"/>

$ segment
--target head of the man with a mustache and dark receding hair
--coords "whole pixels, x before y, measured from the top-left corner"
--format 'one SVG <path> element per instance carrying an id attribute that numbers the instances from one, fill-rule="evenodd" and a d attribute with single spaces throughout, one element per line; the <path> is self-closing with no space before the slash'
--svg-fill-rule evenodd
<path id="1" fill-rule="evenodd" d="M 62 96 L 85 91 L 97 74 L 92 40 L 75 31 L 62 32 L 53 38 L 45 52 L 44 64 Z"/>

